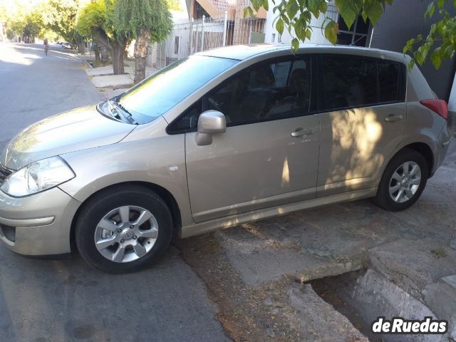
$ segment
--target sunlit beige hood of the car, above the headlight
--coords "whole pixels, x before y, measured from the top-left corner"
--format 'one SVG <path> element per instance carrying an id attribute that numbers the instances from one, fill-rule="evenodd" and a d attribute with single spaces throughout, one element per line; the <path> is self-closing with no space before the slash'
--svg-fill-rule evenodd
<path id="1" fill-rule="evenodd" d="M 95 105 L 78 108 L 23 130 L 1 153 L 0 162 L 11 170 L 19 170 L 47 157 L 115 144 L 135 127 L 106 118 Z"/>

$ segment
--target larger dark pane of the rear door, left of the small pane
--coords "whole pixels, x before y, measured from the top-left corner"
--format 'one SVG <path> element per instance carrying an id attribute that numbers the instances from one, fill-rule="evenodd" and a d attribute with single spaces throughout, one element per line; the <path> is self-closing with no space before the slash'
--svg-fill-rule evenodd
<path id="1" fill-rule="evenodd" d="M 335 110 L 378 103 L 375 63 L 370 59 L 324 56 L 324 109 Z"/>

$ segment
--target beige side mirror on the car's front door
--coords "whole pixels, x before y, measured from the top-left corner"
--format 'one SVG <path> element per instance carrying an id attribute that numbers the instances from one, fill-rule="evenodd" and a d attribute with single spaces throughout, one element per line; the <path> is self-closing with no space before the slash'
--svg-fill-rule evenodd
<path id="1" fill-rule="evenodd" d="M 199 115 L 198 131 L 195 135 L 195 142 L 199 146 L 212 144 L 212 135 L 227 131 L 227 120 L 225 115 L 217 110 L 206 110 Z"/>

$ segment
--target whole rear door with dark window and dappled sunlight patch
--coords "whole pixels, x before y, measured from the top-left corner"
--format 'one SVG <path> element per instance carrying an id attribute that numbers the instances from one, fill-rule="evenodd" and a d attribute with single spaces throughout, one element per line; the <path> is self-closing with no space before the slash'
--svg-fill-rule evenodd
<path id="1" fill-rule="evenodd" d="M 375 187 L 403 140 L 405 66 L 336 54 L 320 58 L 317 197 Z"/>

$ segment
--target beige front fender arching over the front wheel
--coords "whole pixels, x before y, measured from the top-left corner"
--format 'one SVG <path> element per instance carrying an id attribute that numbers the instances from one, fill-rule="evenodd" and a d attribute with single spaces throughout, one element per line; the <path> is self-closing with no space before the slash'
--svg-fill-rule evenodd
<path id="1" fill-rule="evenodd" d="M 124 140 L 61 157 L 76 177 L 59 187 L 79 202 L 111 185 L 147 182 L 171 193 L 180 209 L 182 225 L 194 223 L 188 196 L 184 135 Z"/>

